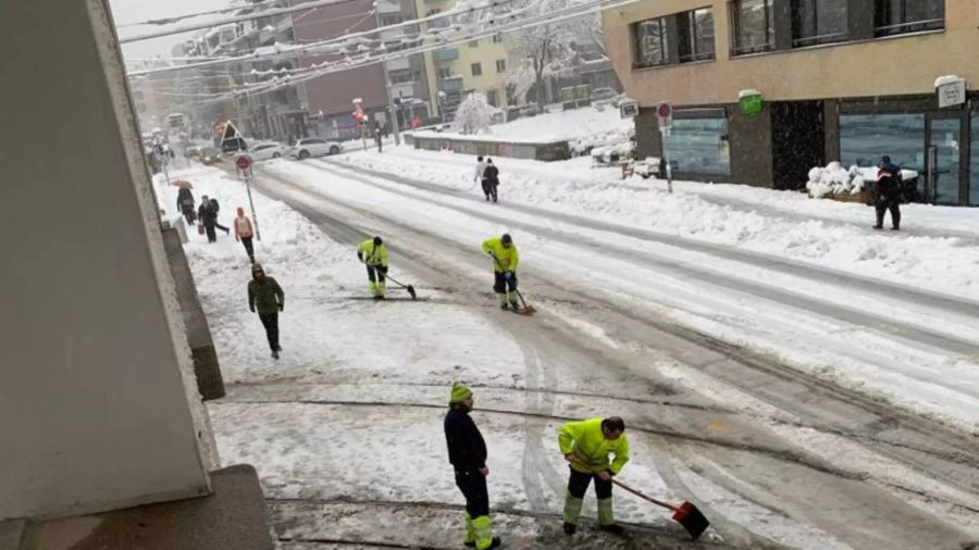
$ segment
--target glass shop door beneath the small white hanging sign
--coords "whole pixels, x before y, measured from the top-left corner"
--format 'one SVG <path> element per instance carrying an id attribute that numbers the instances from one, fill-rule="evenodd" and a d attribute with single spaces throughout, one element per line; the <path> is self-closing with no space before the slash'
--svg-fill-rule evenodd
<path id="1" fill-rule="evenodd" d="M 965 117 L 961 114 L 931 115 L 928 120 L 928 171 L 926 192 L 934 204 L 962 204 L 962 138 Z"/>

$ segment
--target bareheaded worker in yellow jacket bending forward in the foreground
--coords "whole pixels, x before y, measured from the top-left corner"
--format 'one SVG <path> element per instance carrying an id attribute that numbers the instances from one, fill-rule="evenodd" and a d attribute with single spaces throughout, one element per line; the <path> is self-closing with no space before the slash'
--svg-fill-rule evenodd
<path id="1" fill-rule="evenodd" d="M 598 499 L 598 527 L 615 535 L 624 534 L 625 529 L 616 523 L 612 513 L 611 478 L 629 462 L 625 422 L 618 416 L 569 422 L 561 426 L 558 446 L 571 463 L 565 498 L 565 534 L 570 537 L 578 530 L 581 504 L 592 479 L 595 480 L 595 496 Z M 611 462 L 608 461 L 609 454 L 615 455 Z"/>

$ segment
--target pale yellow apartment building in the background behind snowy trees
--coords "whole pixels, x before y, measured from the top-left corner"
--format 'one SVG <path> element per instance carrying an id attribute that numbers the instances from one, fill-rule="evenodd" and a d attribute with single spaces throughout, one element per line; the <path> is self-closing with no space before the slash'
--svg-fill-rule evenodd
<path id="1" fill-rule="evenodd" d="M 455 0 L 414 1 L 422 17 L 447 12 L 456 5 Z M 451 23 L 449 17 L 445 17 L 426 25 L 429 28 L 443 28 Z M 459 103 L 473 91 L 485 93 L 490 104 L 494 107 L 505 107 L 508 64 L 503 35 L 425 53 L 429 90 L 435 116 L 450 121 Z"/>

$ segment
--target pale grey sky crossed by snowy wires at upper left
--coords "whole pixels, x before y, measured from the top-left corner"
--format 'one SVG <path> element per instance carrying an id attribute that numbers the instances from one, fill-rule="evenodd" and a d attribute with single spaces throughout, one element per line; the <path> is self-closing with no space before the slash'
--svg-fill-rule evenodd
<path id="1" fill-rule="evenodd" d="M 231 0 L 109 0 L 112 7 L 112 16 L 117 25 L 126 23 L 138 23 L 140 21 L 173 17 L 176 15 L 185 15 L 189 13 L 199 13 L 211 10 L 220 10 L 226 8 Z M 216 15 L 209 15 L 215 17 Z M 183 23 L 175 23 L 172 26 L 181 24 L 196 23 L 207 21 L 206 18 L 191 20 Z M 141 27 L 123 27 L 119 29 L 119 36 L 137 35 L 149 33 L 152 30 L 165 29 L 157 25 Z M 145 40 L 140 42 L 129 42 L 123 45 L 123 54 L 127 59 L 150 58 L 154 55 L 170 57 L 170 51 L 174 45 L 179 43 L 189 38 L 189 35 L 174 35 L 153 40 Z"/>

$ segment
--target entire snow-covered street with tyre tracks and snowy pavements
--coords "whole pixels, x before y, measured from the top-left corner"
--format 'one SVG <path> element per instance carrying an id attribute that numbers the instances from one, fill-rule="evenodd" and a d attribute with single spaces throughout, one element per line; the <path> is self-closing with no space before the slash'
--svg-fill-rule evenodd
<path id="1" fill-rule="evenodd" d="M 244 250 L 191 235 L 228 383 L 210 404 L 221 458 L 256 465 L 283 548 L 456 548 L 442 417 L 457 379 L 476 395 L 510 548 L 692 546 L 624 491 L 633 540 L 560 533 L 557 428 L 611 414 L 633 447 L 622 480 L 696 502 L 714 525 L 705 548 L 979 538 L 974 212 L 910 208 L 909 235 L 880 235 L 866 208 L 690 183 L 669 196 L 584 161 L 500 160 L 500 204 L 466 155 L 264 165 L 257 257 L 286 295 L 277 362 L 247 309 Z M 247 205 L 218 170 L 181 177 L 225 222 Z M 479 243 L 505 230 L 533 317 L 499 311 L 488 288 Z M 399 300 L 364 300 L 355 248 L 374 234 L 421 300 L 393 285 Z"/>

